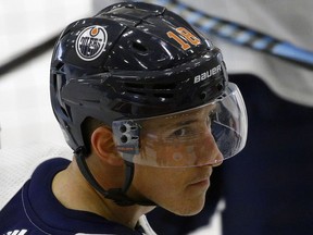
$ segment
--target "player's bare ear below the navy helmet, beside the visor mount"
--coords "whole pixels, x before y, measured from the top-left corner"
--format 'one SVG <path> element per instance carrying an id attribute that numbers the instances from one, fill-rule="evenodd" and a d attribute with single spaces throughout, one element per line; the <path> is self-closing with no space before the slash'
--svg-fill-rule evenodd
<path id="1" fill-rule="evenodd" d="M 124 160 L 117 153 L 115 144 L 113 140 L 113 133 L 105 126 L 96 128 L 91 135 L 92 151 L 107 163 L 121 166 L 124 164 Z"/>

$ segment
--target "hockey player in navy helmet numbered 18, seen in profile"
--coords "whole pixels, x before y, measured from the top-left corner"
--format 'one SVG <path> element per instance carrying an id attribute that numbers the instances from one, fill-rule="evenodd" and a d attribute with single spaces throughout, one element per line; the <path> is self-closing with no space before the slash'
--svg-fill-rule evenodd
<path id="1" fill-rule="evenodd" d="M 221 51 L 163 7 L 116 3 L 68 25 L 50 87 L 73 161 L 40 164 L 0 234 L 153 234 L 146 213 L 201 211 L 213 168 L 246 144 Z"/>

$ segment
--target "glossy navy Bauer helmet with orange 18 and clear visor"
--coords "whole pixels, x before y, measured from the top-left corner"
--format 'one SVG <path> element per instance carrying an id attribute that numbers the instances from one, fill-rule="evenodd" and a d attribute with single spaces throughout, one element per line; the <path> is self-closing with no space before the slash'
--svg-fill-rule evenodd
<path id="1" fill-rule="evenodd" d="M 236 85 L 228 83 L 220 49 L 160 5 L 116 3 L 70 24 L 54 47 L 50 87 L 54 114 L 75 152 L 90 150 L 82 125 L 92 118 L 112 128 L 126 162 L 173 166 L 171 161 L 140 158 L 140 127 L 208 106 L 213 107 L 212 135 L 224 159 L 246 143 L 245 103 Z M 195 145 L 197 136 L 188 141 Z M 174 166 L 198 165 L 185 161 L 183 153 L 179 158 L 181 164 L 176 158 Z"/>

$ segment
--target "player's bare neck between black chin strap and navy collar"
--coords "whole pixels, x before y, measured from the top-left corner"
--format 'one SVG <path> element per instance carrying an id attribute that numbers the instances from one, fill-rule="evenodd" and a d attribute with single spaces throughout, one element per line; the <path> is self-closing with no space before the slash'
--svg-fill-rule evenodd
<path id="1" fill-rule="evenodd" d="M 101 176 L 101 178 L 108 177 L 110 178 L 109 175 Z M 103 187 L 105 188 L 105 186 Z M 130 228 L 135 228 L 142 214 L 148 213 L 154 208 L 139 205 L 121 207 L 113 200 L 104 198 L 84 178 L 75 159 L 67 169 L 55 175 L 52 182 L 52 191 L 57 199 L 68 209 L 92 212 Z"/>

